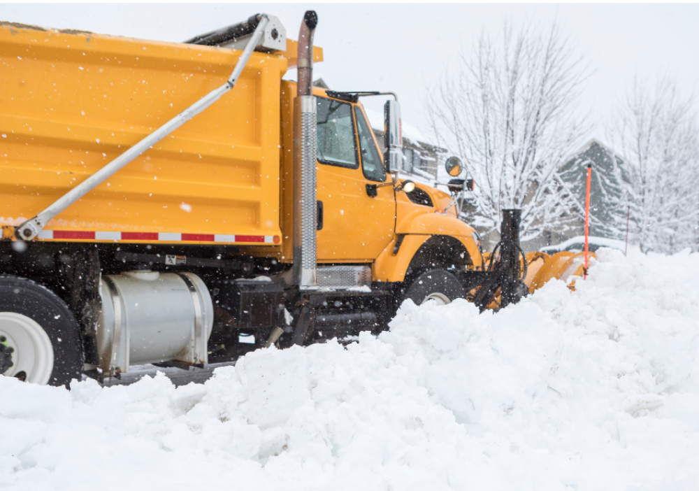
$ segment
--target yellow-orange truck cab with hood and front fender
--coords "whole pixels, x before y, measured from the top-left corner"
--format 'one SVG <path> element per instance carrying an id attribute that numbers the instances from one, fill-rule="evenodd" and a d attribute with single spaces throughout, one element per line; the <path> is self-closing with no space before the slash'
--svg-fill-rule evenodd
<path id="1" fill-rule="evenodd" d="M 293 136 L 284 129 L 292 126 L 294 94 L 296 83 L 282 81 L 280 224 L 284 237 L 293 233 Z M 366 264 L 373 268 L 375 282 L 403 281 L 419 245 L 442 235 L 460 243 L 456 247 L 466 252 L 466 264 L 480 267 L 473 228 L 458 220 L 454 206 L 447 209 L 453 197 L 419 183 L 405 192 L 396 174 L 387 171 L 359 98 L 318 87 L 313 87 L 313 95 L 317 98 L 318 263 Z M 394 180 L 396 185 L 390 185 Z M 410 236 L 407 241 L 406 236 Z M 403 245 L 407 247 L 401 254 Z M 291 262 L 292 249 L 287 241 L 279 250 L 258 248 L 257 253 L 272 253 L 282 262 Z"/>

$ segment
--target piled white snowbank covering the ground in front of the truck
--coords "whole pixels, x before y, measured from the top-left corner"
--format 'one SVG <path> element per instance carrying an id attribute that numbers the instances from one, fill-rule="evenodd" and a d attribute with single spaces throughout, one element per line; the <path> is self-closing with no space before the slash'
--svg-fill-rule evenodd
<path id="1" fill-rule="evenodd" d="M 204 385 L 0 377 L 0 488 L 696 490 L 699 255 L 598 255 L 576 292 L 404 304 Z"/>

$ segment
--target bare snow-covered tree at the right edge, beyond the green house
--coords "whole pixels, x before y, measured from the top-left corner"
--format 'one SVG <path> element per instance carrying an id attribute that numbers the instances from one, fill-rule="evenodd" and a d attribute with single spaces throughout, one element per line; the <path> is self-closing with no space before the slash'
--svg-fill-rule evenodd
<path id="1" fill-rule="evenodd" d="M 630 236 L 641 250 L 697 250 L 699 127 L 693 97 L 660 80 L 653 89 L 635 80 L 612 125 L 622 155 Z"/>

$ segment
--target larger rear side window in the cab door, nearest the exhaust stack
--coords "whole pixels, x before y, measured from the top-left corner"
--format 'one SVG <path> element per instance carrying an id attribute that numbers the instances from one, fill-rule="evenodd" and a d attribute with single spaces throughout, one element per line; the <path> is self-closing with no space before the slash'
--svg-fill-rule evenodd
<path id="1" fill-rule="evenodd" d="M 356 169 L 356 139 L 352 106 L 346 102 L 318 98 L 318 160 L 322 164 Z"/>

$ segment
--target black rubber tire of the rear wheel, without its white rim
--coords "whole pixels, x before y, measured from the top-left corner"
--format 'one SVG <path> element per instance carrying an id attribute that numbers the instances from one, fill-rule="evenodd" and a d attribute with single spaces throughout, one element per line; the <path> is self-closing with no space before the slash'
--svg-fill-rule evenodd
<path id="1" fill-rule="evenodd" d="M 69 385 L 82 378 L 82 335 L 73 313 L 57 294 L 34 281 L 0 276 L 0 313 L 17 313 L 34 320 L 48 335 L 53 367 L 48 385 Z"/>

